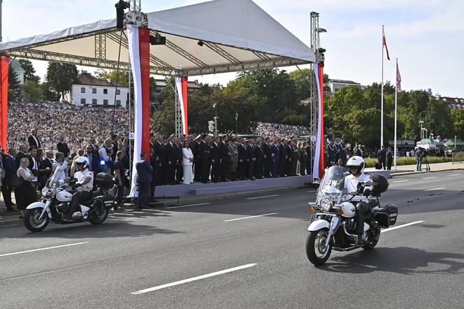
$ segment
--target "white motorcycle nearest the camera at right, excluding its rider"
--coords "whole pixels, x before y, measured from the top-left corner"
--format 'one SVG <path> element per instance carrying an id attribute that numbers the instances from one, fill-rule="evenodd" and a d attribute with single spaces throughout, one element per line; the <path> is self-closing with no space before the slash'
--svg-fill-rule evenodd
<path id="1" fill-rule="evenodd" d="M 342 189 L 340 180 L 349 175 L 342 166 L 331 166 L 322 178 L 315 203 L 308 203 L 312 216 L 307 228 L 307 258 L 315 266 L 324 264 L 332 250 L 350 251 L 362 247 L 372 250 L 379 242 L 380 229 L 396 223 L 398 208 L 393 205 L 381 207 L 379 197 L 389 187 L 388 180 L 379 174 L 371 175 L 372 181 L 358 183 L 356 192 Z M 356 231 L 356 195 L 363 195 L 365 187 L 371 187 L 368 213 L 364 218 L 364 233 Z M 359 239 L 358 239 L 359 238 Z"/>

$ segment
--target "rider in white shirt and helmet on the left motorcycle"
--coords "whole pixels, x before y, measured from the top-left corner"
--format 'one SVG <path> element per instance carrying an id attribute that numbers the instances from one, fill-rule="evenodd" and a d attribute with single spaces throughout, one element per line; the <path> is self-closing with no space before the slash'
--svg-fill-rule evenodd
<path id="1" fill-rule="evenodd" d="M 87 157 L 78 157 L 75 160 L 76 172 L 74 178 L 78 180 L 75 183 L 77 192 L 73 194 L 71 201 L 71 209 L 68 212 L 68 219 L 73 217 L 75 210 L 78 208 L 79 203 L 92 199 L 92 188 L 94 187 L 94 173 L 89 171 L 89 159 Z"/>

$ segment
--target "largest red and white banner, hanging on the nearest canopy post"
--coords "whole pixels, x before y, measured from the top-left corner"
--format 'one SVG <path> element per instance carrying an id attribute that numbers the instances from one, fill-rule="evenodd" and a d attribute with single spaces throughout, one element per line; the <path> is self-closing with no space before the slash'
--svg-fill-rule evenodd
<path id="1" fill-rule="evenodd" d="M 147 154 L 150 161 L 150 30 L 148 28 L 127 25 L 129 58 L 133 76 L 133 113 L 134 141 L 131 193 L 138 196 L 137 164 L 140 153 Z"/>

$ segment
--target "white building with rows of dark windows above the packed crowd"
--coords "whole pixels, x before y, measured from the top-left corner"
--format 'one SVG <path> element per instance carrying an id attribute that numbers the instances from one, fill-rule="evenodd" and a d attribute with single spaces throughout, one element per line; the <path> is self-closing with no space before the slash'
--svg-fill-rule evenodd
<path id="1" fill-rule="evenodd" d="M 127 94 L 129 94 L 129 87 L 119 82 L 116 84 L 110 79 L 99 80 L 87 72 L 82 72 L 77 82 L 71 87 L 71 92 L 66 94 L 64 99 L 76 106 L 114 106 L 116 103 L 117 106 L 129 108 Z"/>

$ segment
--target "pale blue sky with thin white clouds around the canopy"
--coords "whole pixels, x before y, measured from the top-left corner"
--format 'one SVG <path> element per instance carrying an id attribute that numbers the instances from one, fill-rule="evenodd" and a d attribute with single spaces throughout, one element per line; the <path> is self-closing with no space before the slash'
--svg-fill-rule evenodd
<path id="1" fill-rule="evenodd" d="M 4 0 L 3 41 L 44 34 L 115 17 L 116 0 Z M 152 12 L 200 3 L 197 0 L 141 0 Z M 362 85 L 382 79 L 382 24 L 391 61 L 384 58 L 384 80 L 396 78 L 398 57 L 403 90 L 432 89 L 441 96 L 464 97 L 463 0 L 254 0 L 303 43 L 310 45 L 310 12 L 319 13 L 325 73 Z M 43 78 L 46 62 L 34 62 Z M 78 69 L 85 69 L 80 68 Z M 295 67 L 286 68 L 293 71 Z M 195 77 L 226 83 L 235 73 Z"/>

